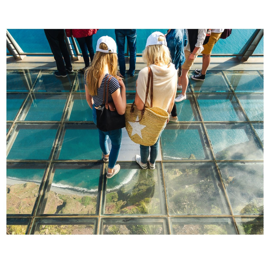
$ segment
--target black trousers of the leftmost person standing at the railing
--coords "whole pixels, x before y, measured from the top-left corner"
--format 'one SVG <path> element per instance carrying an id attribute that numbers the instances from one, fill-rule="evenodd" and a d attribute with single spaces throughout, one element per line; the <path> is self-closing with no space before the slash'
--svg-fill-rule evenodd
<path id="1" fill-rule="evenodd" d="M 66 68 L 71 68 L 72 65 L 68 48 L 65 43 L 64 29 L 44 29 L 44 32 L 52 50 L 56 67 L 60 75 L 66 75 Z"/>

